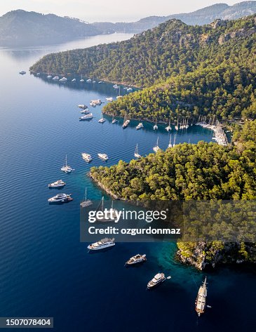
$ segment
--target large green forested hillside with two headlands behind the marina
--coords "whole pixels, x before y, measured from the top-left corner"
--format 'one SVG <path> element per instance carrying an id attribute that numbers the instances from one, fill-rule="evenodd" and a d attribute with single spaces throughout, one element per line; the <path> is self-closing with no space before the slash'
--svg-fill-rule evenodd
<path id="1" fill-rule="evenodd" d="M 166 120 L 216 114 L 255 118 L 256 15 L 212 25 L 170 20 L 128 41 L 46 55 L 33 72 L 76 73 L 144 89 L 108 114 Z"/>

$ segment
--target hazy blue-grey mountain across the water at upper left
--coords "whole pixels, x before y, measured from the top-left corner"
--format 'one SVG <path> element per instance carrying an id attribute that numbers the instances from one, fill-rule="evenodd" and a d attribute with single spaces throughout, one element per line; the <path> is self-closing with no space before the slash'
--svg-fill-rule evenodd
<path id="1" fill-rule="evenodd" d="M 55 44 L 102 33 L 98 27 L 79 19 L 54 14 L 18 10 L 0 17 L 0 46 Z"/>

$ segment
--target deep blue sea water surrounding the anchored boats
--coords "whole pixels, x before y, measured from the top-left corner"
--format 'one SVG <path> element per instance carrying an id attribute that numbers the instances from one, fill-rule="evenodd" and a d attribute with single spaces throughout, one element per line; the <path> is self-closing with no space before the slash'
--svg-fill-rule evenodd
<path id="1" fill-rule="evenodd" d="M 122 121 L 79 122 L 76 105 L 116 96 L 112 84 L 53 84 L 28 73 L 43 54 L 105 41 L 124 34 L 96 36 L 60 46 L 0 50 L 0 317 L 54 317 L 55 331 L 255 331 L 255 267 L 220 267 L 208 276 L 208 303 L 200 319 L 194 300 L 205 272 L 175 262 L 175 244 L 116 244 L 109 251 L 88 254 L 79 242 L 79 201 L 88 188 L 90 199 L 102 192 L 86 176 L 109 155 L 107 165 L 133 159 L 168 146 L 164 128 L 152 124 L 136 131 L 137 121 L 123 130 Z M 24 69 L 27 74 L 18 72 Z M 123 93 L 123 89 L 121 90 Z M 176 142 L 210 141 L 212 133 L 191 127 Z M 81 152 L 93 155 L 88 166 Z M 76 169 L 60 172 L 65 154 Z M 54 190 L 47 184 L 62 178 L 63 192 L 74 201 L 49 206 Z M 135 253 L 147 253 L 147 263 L 125 268 Z M 146 291 L 156 272 L 170 281 Z"/>

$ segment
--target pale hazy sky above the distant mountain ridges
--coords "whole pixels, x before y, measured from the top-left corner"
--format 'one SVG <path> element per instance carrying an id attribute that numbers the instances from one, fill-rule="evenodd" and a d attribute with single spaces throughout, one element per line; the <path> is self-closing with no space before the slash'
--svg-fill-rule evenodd
<path id="1" fill-rule="evenodd" d="M 149 15 L 188 13 L 217 3 L 241 0 L 0 0 L 0 15 L 14 9 L 55 13 L 95 21 L 133 21 Z"/>

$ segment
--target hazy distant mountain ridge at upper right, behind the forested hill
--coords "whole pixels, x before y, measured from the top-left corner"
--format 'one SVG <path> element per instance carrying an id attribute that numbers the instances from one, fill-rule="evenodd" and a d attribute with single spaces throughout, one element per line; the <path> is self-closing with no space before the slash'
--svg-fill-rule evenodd
<path id="1" fill-rule="evenodd" d="M 243 1 L 233 6 L 227 4 L 214 4 L 198 11 L 191 13 L 173 14 L 168 16 L 149 16 L 142 18 L 137 22 L 95 22 L 93 25 L 103 31 L 107 32 L 113 30 L 114 32 L 135 32 L 139 33 L 152 27 L 171 20 L 173 18 L 181 20 L 187 25 L 206 25 L 213 20 L 220 18 L 221 20 L 236 20 L 243 16 L 248 16 L 256 13 L 256 1 Z"/>

